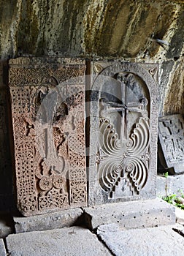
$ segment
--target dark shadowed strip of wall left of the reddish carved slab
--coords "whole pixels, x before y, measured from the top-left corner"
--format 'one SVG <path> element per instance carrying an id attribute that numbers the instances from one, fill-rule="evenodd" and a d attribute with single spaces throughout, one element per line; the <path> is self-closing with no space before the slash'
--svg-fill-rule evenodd
<path id="1" fill-rule="evenodd" d="M 0 62 L 0 211 L 15 210 L 7 78 L 7 63 Z"/>

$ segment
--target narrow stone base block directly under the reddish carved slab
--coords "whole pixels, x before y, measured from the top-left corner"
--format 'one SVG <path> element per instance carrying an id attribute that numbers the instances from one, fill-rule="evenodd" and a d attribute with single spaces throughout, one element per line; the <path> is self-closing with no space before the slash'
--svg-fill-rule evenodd
<path id="1" fill-rule="evenodd" d="M 74 225 L 82 214 L 81 208 L 73 208 L 34 217 L 14 217 L 15 232 L 23 233 L 69 227 Z"/>

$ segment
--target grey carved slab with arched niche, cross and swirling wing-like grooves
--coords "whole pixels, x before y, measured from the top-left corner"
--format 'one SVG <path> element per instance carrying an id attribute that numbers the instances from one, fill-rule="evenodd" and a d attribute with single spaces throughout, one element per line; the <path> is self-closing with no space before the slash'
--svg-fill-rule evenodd
<path id="1" fill-rule="evenodd" d="M 156 64 L 91 64 L 89 205 L 156 197 Z"/>

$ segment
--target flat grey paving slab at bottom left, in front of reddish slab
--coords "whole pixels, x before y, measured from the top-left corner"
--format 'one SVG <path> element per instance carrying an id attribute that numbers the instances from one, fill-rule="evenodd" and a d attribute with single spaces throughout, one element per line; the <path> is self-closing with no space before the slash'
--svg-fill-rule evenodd
<path id="1" fill-rule="evenodd" d="M 111 255 L 97 236 L 83 227 L 13 234 L 6 240 L 11 256 Z"/>

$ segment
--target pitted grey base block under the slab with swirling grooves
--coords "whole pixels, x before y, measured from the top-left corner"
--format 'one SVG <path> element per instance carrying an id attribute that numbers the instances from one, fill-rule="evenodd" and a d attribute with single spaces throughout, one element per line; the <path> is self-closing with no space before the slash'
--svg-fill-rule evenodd
<path id="1" fill-rule="evenodd" d="M 88 228 L 118 223 L 122 227 L 157 227 L 175 224 L 175 207 L 159 198 L 152 200 L 109 203 L 84 208 Z"/>

